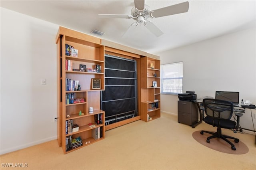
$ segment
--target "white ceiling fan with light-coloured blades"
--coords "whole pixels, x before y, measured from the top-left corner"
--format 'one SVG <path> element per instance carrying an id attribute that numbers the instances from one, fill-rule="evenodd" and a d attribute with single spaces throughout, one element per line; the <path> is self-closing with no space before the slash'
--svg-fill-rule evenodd
<path id="1" fill-rule="evenodd" d="M 131 15 L 126 15 L 126 14 L 98 14 L 98 15 L 104 18 L 126 18 L 126 19 L 132 18 L 135 20 L 135 22 L 132 23 L 130 27 L 134 25 L 138 26 L 138 24 L 144 24 L 144 26 L 148 30 L 150 30 L 152 34 L 154 34 L 156 37 L 159 37 L 164 33 L 148 19 L 188 12 L 188 7 L 189 7 L 188 2 L 182 2 L 180 4 L 166 6 L 164 8 L 159 8 L 151 11 L 149 6 L 145 4 L 144 0 L 134 0 L 134 5 L 135 6 L 131 10 Z"/>

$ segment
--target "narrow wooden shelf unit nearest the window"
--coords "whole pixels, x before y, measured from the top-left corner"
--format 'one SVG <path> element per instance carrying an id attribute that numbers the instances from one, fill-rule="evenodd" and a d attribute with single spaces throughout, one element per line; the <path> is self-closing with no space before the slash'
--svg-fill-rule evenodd
<path id="1" fill-rule="evenodd" d="M 154 65 L 154 68 L 151 66 Z M 152 87 L 153 81 L 157 86 Z M 160 111 L 160 60 L 142 57 L 141 58 L 141 120 L 148 122 L 161 116 Z M 158 108 L 152 109 L 152 104 L 158 103 Z M 152 111 L 148 110 L 152 109 Z"/>

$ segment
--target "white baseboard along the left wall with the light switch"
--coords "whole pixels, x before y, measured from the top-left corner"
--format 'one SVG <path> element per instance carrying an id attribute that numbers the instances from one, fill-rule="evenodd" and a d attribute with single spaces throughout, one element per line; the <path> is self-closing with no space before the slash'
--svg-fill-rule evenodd
<path id="1" fill-rule="evenodd" d="M 50 138 L 44 138 L 44 139 L 42 139 L 42 140 L 37 140 L 37 141 L 34 141 L 34 142 L 22 144 L 22 145 L 15 146 L 15 147 L 12 147 L 12 148 L 0 150 L 0 155 L 6 154 L 6 153 L 9 153 L 9 152 L 13 152 L 13 151 L 16 151 L 16 150 L 28 148 L 28 147 L 30 147 L 30 146 L 34 146 L 34 145 L 36 145 L 36 144 L 41 144 L 41 143 L 48 142 L 48 141 L 50 141 L 50 140 L 55 140 L 55 139 L 57 139 L 57 136 L 52 136 L 52 137 L 50 137 Z"/>

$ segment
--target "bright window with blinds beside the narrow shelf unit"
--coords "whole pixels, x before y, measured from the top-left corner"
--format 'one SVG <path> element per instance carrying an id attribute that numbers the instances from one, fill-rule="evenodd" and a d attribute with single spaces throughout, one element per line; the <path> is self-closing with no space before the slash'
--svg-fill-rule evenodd
<path id="1" fill-rule="evenodd" d="M 182 93 L 183 62 L 161 65 L 161 93 Z"/>

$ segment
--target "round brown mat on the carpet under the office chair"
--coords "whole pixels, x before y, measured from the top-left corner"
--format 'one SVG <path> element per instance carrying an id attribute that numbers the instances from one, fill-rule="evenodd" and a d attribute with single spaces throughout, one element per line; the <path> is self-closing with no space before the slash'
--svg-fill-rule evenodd
<path id="1" fill-rule="evenodd" d="M 221 138 L 212 138 L 210 139 L 210 143 L 206 142 L 206 138 L 212 136 L 212 134 L 204 133 L 200 134 L 201 130 L 193 132 L 193 138 L 198 141 L 200 144 L 217 150 L 219 152 L 227 153 L 227 154 L 246 154 L 249 152 L 249 148 L 244 144 L 241 140 L 238 143 L 235 143 L 233 139 L 230 141 L 235 145 L 236 150 L 231 149 L 231 145 Z"/>

